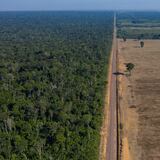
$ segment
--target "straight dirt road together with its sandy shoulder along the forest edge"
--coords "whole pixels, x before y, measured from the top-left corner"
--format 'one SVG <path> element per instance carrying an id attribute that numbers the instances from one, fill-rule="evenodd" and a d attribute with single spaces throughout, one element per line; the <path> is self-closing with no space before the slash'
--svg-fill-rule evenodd
<path id="1" fill-rule="evenodd" d="M 114 17 L 114 35 L 113 46 L 110 59 L 110 69 L 108 76 L 108 87 L 105 98 L 105 113 L 101 131 L 100 160 L 116 160 L 117 159 L 117 31 L 116 16 Z"/>

